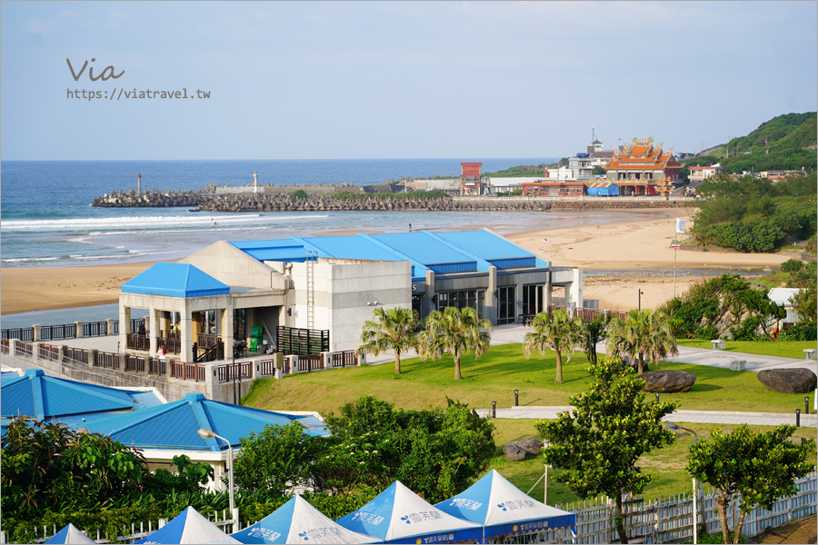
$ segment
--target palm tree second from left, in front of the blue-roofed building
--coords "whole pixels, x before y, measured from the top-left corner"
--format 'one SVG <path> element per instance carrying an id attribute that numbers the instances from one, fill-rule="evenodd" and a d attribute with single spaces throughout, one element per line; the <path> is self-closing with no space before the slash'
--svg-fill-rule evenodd
<path id="1" fill-rule="evenodd" d="M 421 333 L 421 356 L 437 359 L 443 353 L 454 358 L 454 380 L 460 374 L 460 357 L 474 351 L 474 359 L 488 350 L 492 336 L 492 322 L 481 320 L 471 307 L 458 310 L 446 307 L 443 312 L 432 311 L 424 321 L 426 330 Z"/>

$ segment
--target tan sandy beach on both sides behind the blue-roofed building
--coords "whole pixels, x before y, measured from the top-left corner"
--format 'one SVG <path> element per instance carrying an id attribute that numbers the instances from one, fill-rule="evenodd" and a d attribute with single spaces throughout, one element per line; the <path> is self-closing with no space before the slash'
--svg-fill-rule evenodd
<path id="1" fill-rule="evenodd" d="M 689 212 L 678 209 L 676 215 L 689 219 Z M 688 227 L 690 225 L 688 223 Z M 601 308 L 626 311 L 638 304 L 639 290 L 643 292 L 643 308 L 658 308 L 673 297 L 672 275 L 649 272 L 634 275 L 629 271 L 673 271 L 670 243 L 676 236 L 674 232 L 674 220 L 663 219 L 527 231 L 507 235 L 507 238 L 554 266 L 608 271 L 604 275 L 585 278 L 584 298 L 599 299 Z M 789 258 L 778 253 L 678 251 L 676 268 L 761 270 L 777 267 Z M 0 311 L 7 315 L 114 303 L 119 299 L 120 286 L 153 263 L 5 267 L 0 270 Z M 702 276 L 680 273 L 675 292 L 681 294 L 693 282 L 702 279 Z"/>

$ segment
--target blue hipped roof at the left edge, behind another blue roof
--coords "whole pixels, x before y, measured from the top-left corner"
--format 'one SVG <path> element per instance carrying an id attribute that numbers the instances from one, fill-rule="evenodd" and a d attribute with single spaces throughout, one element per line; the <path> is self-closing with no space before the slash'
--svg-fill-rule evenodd
<path id="1" fill-rule="evenodd" d="M 148 404 L 151 394 L 118 390 L 85 382 L 45 376 L 42 370 L 28 370 L 22 377 L 3 381 L 0 413 L 5 418 L 25 414 L 36 420 L 99 412 L 130 411 Z M 140 403 L 140 401 L 143 401 Z"/>

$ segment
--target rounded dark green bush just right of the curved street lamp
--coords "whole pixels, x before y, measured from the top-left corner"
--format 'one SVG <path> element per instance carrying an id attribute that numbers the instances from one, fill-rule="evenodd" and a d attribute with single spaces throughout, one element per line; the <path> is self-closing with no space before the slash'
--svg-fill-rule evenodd
<path id="1" fill-rule="evenodd" d="M 242 450 L 234 461 L 236 487 L 281 497 L 293 487 L 314 485 L 321 441 L 305 433 L 298 422 L 267 424 L 260 432 L 251 431 L 242 438 Z"/>

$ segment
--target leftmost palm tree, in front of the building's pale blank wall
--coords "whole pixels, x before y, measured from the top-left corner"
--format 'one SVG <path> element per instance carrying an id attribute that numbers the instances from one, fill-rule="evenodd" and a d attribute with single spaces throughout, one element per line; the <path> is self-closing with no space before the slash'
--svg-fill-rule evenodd
<path id="1" fill-rule="evenodd" d="M 403 307 L 384 310 L 377 307 L 372 312 L 375 320 L 364 322 L 361 333 L 359 354 L 371 352 L 375 356 L 381 352 L 394 352 L 394 374 L 401 374 L 401 353 L 417 350 L 417 312 Z"/>

